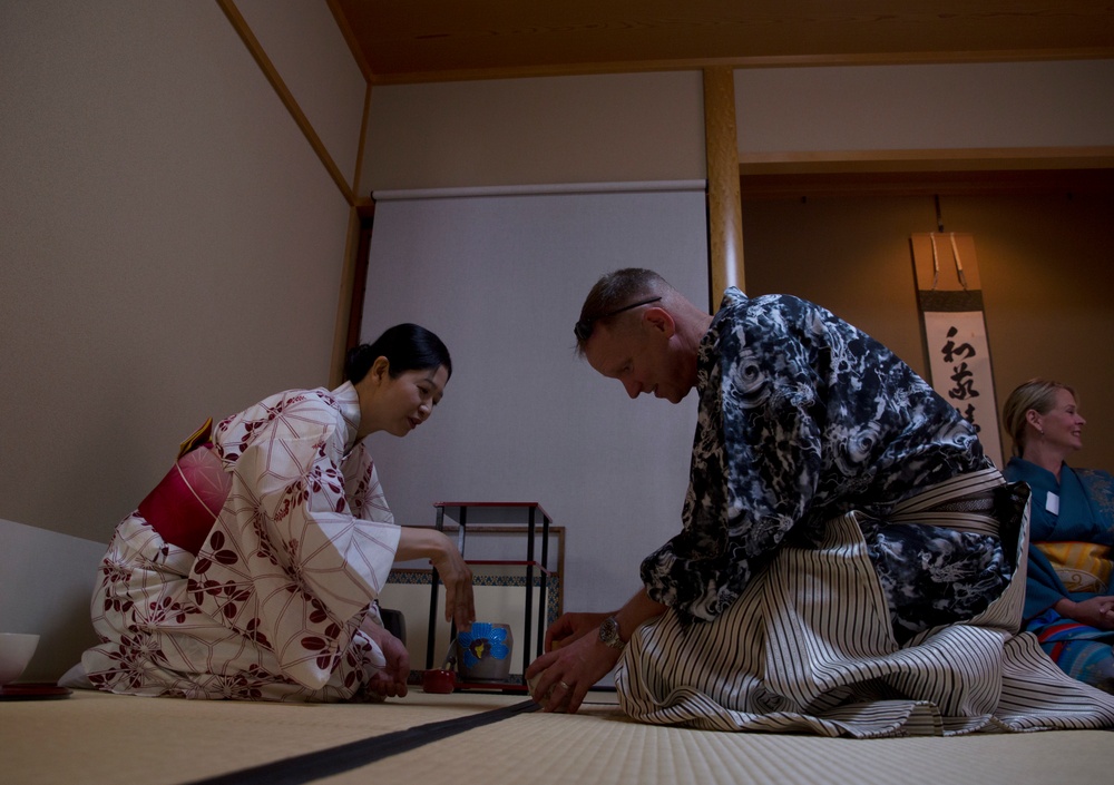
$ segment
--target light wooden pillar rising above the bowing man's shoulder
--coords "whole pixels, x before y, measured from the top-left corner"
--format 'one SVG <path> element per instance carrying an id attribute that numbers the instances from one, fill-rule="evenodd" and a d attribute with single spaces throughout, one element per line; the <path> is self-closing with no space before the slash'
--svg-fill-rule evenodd
<path id="1" fill-rule="evenodd" d="M 704 69 L 704 148 L 707 158 L 709 297 L 714 313 L 725 288 L 744 287 L 735 77 L 726 66 Z"/>

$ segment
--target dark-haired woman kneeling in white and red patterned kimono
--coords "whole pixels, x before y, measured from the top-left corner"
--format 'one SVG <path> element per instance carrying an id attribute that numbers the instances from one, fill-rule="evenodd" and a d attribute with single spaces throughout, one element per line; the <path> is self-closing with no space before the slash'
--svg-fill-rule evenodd
<path id="1" fill-rule="evenodd" d="M 92 598 L 101 642 L 65 681 L 134 695 L 329 701 L 407 693 L 380 618 L 392 562 L 428 558 L 467 629 L 471 575 L 432 529 L 400 527 L 364 436 L 405 436 L 452 372 L 400 324 L 349 353 L 333 391 L 290 390 L 211 423 L 117 527 Z"/>

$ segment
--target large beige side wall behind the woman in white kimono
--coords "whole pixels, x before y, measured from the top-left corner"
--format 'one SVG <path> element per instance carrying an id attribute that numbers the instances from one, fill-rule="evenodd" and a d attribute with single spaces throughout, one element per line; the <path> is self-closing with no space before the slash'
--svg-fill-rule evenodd
<path id="1" fill-rule="evenodd" d="M 354 178 L 328 6 L 267 8 Z M 0 519 L 105 542 L 206 416 L 329 382 L 350 205 L 216 2 L 6 3 L 0 73 Z"/>

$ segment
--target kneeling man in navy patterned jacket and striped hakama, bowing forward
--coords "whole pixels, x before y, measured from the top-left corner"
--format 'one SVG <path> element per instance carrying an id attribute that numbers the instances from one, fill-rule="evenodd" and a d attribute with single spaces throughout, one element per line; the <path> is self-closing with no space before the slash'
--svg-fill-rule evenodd
<path id="1" fill-rule="evenodd" d="M 1114 724 L 1114 701 L 1015 636 L 1025 488 L 892 352 L 790 296 L 732 288 L 713 317 L 645 269 L 600 278 L 575 332 L 632 398 L 695 387 L 700 411 L 682 531 L 623 608 L 553 626 L 527 671 L 547 710 L 575 712 L 618 664 L 623 708 L 659 724 Z M 1061 705 L 1028 713 L 1049 689 Z"/>

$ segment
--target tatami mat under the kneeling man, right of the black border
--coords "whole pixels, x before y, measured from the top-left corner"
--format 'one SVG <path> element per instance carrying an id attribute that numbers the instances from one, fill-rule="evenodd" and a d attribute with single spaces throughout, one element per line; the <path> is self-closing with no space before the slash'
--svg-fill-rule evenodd
<path id="1" fill-rule="evenodd" d="M 515 717 L 321 782 L 1053 785 L 1105 779 L 1112 742 L 1102 730 L 877 740 L 732 734 L 589 709 Z"/>

